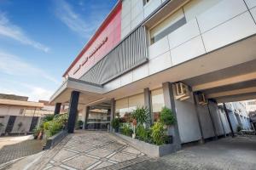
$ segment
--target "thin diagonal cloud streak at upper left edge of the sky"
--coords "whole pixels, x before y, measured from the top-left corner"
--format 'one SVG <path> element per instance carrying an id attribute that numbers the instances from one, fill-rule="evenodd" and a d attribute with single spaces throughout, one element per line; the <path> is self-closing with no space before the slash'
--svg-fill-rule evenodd
<path id="1" fill-rule="evenodd" d="M 32 46 L 39 50 L 49 52 L 49 48 L 40 42 L 32 40 L 30 37 L 26 36 L 26 33 L 22 31 L 19 26 L 12 24 L 5 14 L 0 12 L 0 36 L 12 38 L 23 44 Z"/>

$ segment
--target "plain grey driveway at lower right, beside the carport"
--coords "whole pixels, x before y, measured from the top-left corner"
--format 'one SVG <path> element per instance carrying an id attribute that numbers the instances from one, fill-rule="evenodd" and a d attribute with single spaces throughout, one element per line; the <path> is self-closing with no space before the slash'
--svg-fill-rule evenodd
<path id="1" fill-rule="evenodd" d="M 256 169 L 256 137 L 231 137 L 183 148 L 175 154 L 148 159 L 124 169 Z"/>

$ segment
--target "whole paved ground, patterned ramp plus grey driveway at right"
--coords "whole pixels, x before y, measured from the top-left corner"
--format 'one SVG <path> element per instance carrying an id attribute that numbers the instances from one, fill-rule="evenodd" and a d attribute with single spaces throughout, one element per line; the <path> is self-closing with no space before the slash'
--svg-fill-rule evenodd
<path id="1" fill-rule="evenodd" d="M 75 133 L 47 151 L 31 169 L 256 170 L 256 137 L 218 139 L 154 159 L 109 133 Z"/>

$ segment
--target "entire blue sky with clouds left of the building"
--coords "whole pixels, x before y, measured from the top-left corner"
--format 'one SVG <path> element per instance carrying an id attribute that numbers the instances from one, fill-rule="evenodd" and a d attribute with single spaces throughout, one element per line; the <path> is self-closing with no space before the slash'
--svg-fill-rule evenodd
<path id="1" fill-rule="evenodd" d="M 117 0 L 0 0 L 0 93 L 49 99 Z"/>

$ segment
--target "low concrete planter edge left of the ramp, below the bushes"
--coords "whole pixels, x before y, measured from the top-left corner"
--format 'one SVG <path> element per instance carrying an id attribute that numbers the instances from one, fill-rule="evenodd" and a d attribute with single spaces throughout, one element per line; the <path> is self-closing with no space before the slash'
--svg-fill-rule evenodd
<path id="1" fill-rule="evenodd" d="M 62 139 L 64 139 L 67 136 L 67 131 L 62 130 L 59 133 L 56 133 L 54 136 L 47 139 L 44 150 L 49 150 L 55 147 L 56 144 L 59 144 Z"/>

